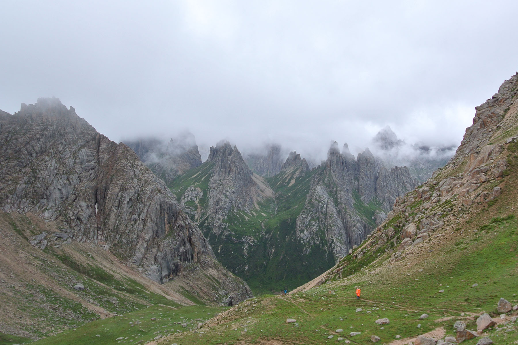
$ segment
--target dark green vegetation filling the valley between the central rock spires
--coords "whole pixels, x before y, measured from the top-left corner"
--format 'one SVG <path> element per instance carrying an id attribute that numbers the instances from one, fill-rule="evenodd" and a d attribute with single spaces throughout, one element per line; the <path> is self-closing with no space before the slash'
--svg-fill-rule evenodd
<path id="1" fill-rule="evenodd" d="M 187 188 L 200 188 L 203 197 L 199 205 L 204 209 L 212 166 L 213 163 L 206 162 L 190 170 L 175 180 L 171 190 L 180 199 Z M 304 208 L 311 179 L 323 170 L 314 169 L 295 181 L 291 174 L 283 173 L 266 178 L 275 192 L 275 199 L 267 199 L 250 214 L 231 209 L 225 219 L 227 227 L 218 235 L 206 225 L 206 217 L 199 220 L 199 228 L 218 260 L 244 279 L 255 294 L 294 289 L 335 264 L 333 253 L 322 249 L 329 247 L 325 243 L 313 245 L 311 257 L 306 256 L 304 246 L 295 234 L 295 221 Z M 320 237 L 325 241 L 323 232 Z"/>

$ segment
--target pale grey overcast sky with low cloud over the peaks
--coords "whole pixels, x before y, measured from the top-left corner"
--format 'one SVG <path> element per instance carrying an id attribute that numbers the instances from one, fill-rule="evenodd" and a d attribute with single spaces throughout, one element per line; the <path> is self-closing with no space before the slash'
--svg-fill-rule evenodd
<path id="1" fill-rule="evenodd" d="M 455 144 L 518 70 L 518 2 L 23 1 L 0 13 L 0 109 L 59 97 L 114 141 L 310 155 L 390 125 Z"/>

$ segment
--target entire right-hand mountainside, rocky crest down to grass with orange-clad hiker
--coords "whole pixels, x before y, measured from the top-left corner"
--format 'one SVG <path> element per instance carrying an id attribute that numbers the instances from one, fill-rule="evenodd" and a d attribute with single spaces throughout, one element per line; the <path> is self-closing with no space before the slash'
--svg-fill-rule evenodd
<path id="1" fill-rule="evenodd" d="M 321 344 L 339 337 L 367 344 L 378 336 L 403 345 L 420 335 L 456 336 L 456 321 L 476 331 L 484 312 L 496 326 L 463 344 L 482 336 L 518 343 L 518 311 L 497 312 L 500 298 L 518 304 L 517 90 L 518 74 L 477 107 L 447 166 L 398 198 L 377 231 L 327 273 L 287 296 L 250 299 L 159 344 Z M 378 325 L 380 318 L 390 323 Z"/>

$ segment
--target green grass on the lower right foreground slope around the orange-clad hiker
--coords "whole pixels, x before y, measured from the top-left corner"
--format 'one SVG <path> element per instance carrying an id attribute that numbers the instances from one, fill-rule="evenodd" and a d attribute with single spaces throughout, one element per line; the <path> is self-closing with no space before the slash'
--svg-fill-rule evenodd
<path id="1" fill-rule="evenodd" d="M 240 304 L 222 324 L 208 323 L 200 331 L 160 343 L 259 344 L 275 339 L 282 343 L 321 344 L 336 343 L 338 337 L 343 337 L 367 344 L 371 335 L 379 336 L 380 343 L 389 343 L 396 335 L 415 337 L 438 327 L 445 329 L 445 335 L 454 336 L 453 323 L 466 320 L 461 313 L 485 311 L 497 317 L 500 297 L 513 305 L 518 302 L 516 218 L 511 214 L 491 219 L 486 225 L 462 237 L 461 241 L 469 244 L 467 249 L 452 243 L 443 248 L 451 250 L 448 255 L 442 250 L 430 252 L 422 262 L 410 265 L 404 262 L 393 272 L 385 270 L 377 274 L 360 270 L 354 277 L 306 292 L 254 298 Z M 474 283 L 478 286 L 472 287 Z M 362 299 L 354 296 L 356 286 L 362 289 Z M 356 308 L 363 310 L 356 312 Z M 421 320 L 422 313 L 430 317 Z M 286 318 L 296 319 L 297 324 L 287 324 Z M 381 329 L 375 323 L 379 318 L 389 318 L 390 324 Z M 468 321 L 467 326 L 473 329 L 476 323 Z M 343 333 L 336 333 L 337 329 L 343 329 Z M 350 332 L 361 335 L 350 336 Z M 518 340 L 516 329 L 490 332 L 495 343 L 511 344 Z M 334 337 L 328 339 L 329 335 Z M 463 344 L 473 345 L 477 341 Z"/>

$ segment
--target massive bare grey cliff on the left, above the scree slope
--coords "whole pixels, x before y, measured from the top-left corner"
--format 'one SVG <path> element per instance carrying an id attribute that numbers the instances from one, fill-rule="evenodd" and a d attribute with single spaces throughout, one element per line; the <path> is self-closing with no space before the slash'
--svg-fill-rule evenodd
<path id="1" fill-rule="evenodd" d="M 3 211 L 57 221 L 76 241 L 97 243 L 154 281 L 202 268 L 222 278 L 214 299 L 251 296 L 246 283 L 216 262 L 164 182 L 74 108 L 57 98 L 22 103 L 15 115 L 0 114 L 0 143 Z"/>

